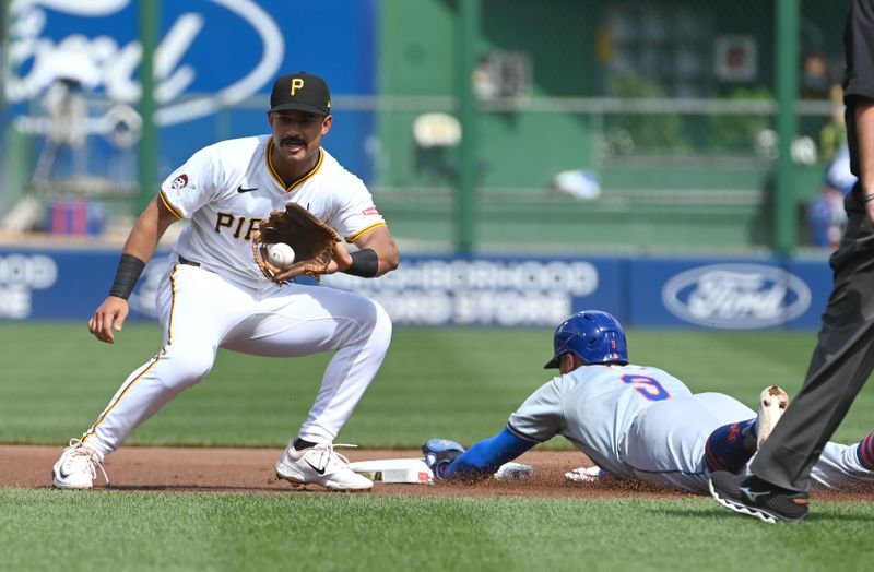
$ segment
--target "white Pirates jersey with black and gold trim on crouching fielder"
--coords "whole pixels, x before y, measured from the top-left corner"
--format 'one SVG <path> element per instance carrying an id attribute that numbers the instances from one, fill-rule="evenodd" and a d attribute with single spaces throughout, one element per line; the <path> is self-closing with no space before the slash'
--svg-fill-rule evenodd
<path id="1" fill-rule="evenodd" d="M 259 135 L 204 147 L 161 186 L 161 200 L 179 218 L 190 218 L 173 247 L 234 282 L 259 290 L 277 286 L 252 255 L 252 231 L 271 211 L 298 203 L 331 225 L 347 242 L 385 225 L 364 182 L 323 148 L 308 174 L 287 187 L 270 160 L 273 139 Z"/>

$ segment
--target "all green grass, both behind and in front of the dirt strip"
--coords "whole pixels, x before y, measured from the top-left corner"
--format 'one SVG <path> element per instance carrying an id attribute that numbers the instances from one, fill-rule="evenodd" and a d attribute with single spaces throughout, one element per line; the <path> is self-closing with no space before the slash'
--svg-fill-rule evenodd
<path id="1" fill-rule="evenodd" d="M 633 361 L 694 391 L 753 406 L 798 391 L 815 334 L 630 331 Z M 115 346 L 81 324 L 0 324 L 0 442 L 59 448 L 158 348 L 153 324 Z M 38 347 L 38 350 L 34 348 Z M 414 448 L 493 434 L 538 385 L 546 330 L 399 329 L 340 440 Z M 211 374 L 130 443 L 281 448 L 311 405 L 328 356 L 220 353 Z M 874 430 L 874 386 L 835 439 Z M 547 446 L 567 448 L 556 439 Z M 45 570 L 865 570 L 874 507 L 817 502 L 803 525 L 768 526 L 706 498 L 579 500 L 369 494 L 222 494 L 0 488 L 2 567 Z"/>

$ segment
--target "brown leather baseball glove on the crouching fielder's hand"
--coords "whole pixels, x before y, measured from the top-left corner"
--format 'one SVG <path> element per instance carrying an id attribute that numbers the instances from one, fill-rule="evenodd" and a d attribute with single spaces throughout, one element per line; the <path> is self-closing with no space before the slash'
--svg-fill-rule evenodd
<path id="1" fill-rule="evenodd" d="M 268 247 L 285 242 L 294 249 L 295 262 L 279 267 L 270 262 Z M 252 253 L 261 272 L 275 282 L 286 281 L 306 274 L 319 279 L 328 271 L 340 235 L 317 216 L 296 203 L 285 205 L 285 211 L 273 211 L 261 221 L 252 233 Z"/>

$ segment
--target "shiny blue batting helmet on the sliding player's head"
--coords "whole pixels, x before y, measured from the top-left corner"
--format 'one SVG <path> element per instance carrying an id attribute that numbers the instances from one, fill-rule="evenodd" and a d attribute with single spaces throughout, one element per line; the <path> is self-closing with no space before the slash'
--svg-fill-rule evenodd
<path id="1" fill-rule="evenodd" d="M 557 368 L 562 355 L 570 351 L 586 364 L 628 364 L 628 343 L 618 320 L 606 312 L 575 313 L 555 330 L 555 355 L 543 366 Z"/>

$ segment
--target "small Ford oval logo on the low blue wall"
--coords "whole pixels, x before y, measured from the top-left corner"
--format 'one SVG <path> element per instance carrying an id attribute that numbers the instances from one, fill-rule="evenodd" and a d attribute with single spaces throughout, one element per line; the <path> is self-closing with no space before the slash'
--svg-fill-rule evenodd
<path id="1" fill-rule="evenodd" d="M 782 325 L 811 306 L 798 276 L 764 264 L 699 266 L 668 281 L 662 303 L 687 322 L 732 330 Z"/>

